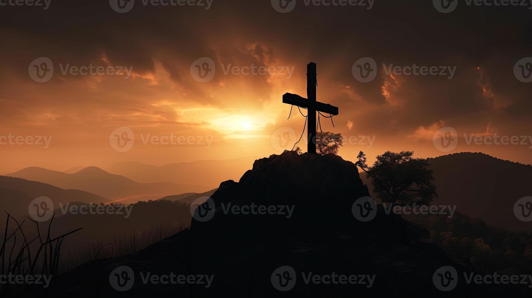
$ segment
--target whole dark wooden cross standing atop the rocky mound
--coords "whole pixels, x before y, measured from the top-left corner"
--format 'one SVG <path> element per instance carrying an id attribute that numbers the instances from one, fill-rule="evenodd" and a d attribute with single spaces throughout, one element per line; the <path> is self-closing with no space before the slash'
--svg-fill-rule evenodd
<path id="1" fill-rule="evenodd" d="M 300 107 L 305 107 L 309 113 L 307 114 L 307 149 L 309 153 L 316 154 L 316 111 L 328 113 L 331 115 L 338 115 L 338 107 L 330 104 L 325 104 L 316 101 L 316 63 L 310 62 L 306 65 L 306 96 L 307 100 L 297 94 L 285 93 L 282 95 L 282 102 Z"/>

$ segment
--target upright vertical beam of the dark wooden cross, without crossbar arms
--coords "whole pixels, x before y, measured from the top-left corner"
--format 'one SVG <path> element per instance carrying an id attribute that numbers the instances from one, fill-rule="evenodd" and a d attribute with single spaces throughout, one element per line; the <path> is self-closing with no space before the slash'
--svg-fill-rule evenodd
<path id="1" fill-rule="evenodd" d="M 306 95 L 309 100 L 309 113 L 307 114 L 307 139 L 306 151 L 316 154 L 316 63 L 306 65 Z"/>

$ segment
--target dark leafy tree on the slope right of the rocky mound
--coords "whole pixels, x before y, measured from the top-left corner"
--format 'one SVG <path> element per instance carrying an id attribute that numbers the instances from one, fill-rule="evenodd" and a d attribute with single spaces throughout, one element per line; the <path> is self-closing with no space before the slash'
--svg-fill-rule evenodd
<path id="1" fill-rule="evenodd" d="M 426 159 L 414 159 L 413 154 L 412 151 L 386 151 L 377 155 L 377 161 L 369 167 L 364 152 L 360 151 L 355 164 L 371 177 L 373 193 L 383 203 L 429 204 L 438 198 L 436 186 L 432 184 L 433 170 L 428 169 L 430 164 Z"/>

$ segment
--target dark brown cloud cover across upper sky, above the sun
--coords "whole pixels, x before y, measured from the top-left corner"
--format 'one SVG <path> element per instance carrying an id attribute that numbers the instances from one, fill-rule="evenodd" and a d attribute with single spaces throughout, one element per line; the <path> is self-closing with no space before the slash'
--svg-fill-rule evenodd
<path id="1" fill-rule="evenodd" d="M 62 121 L 115 123 L 138 117 L 139 122 L 182 123 L 185 129 L 190 119 L 181 119 L 176 110 L 191 102 L 226 111 L 261 111 L 284 92 L 305 96 L 305 65 L 313 61 L 318 64 L 319 100 L 340 106 L 335 119 L 345 133 L 347 121 L 353 129 L 382 136 L 413 134 L 440 121 L 467 129 L 491 123 L 506 134 L 529 130 L 532 83 L 513 75 L 513 65 L 532 56 L 528 7 L 460 2 L 444 14 L 421 0 L 376 0 L 371 10 L 303 3 L 297 0 L 295 9 L 284 14 L 270 1 L 259 0 L 214 0 L 209 10 L 143 6 L 136 0 L 123 14 L 107 0 L 52 0 L 47 10 L 2 6 L 0 105 L 9 112 L 0 109 L 0 114 L 28 123 L 33 123 L 31 114 L 43 110 Z M 112 65 L 131 65 L 139 77 L 135 86 L 101 82 L 96 88 L 101 93 L 78 77 L 54 77 L 51 84 L 36 86 L 27 69 L 41 56 L 72 65 L 105 65 L 105 56 Z M 365 56 L 380 65 L 379 73 L 372 82 L 360 83 L 351 67 Z M 275 80 L 225 76 L 217 69 L 212 81 L 198 84 L 189 68 L 201 57 L 226 66 L 283 65 L 295 71 L 291 79 Z M 384 73 L 383 63 L 450 66 L 456 72 L 452 79 L 403 75 L 394 80 Z M 158 67 L 168 73 L 168 84 L 151 79 L 161 71 Z M 158 101 L 173 102 L 154 107 Z M 115 114 L 113 121 L 107 118 Z M 86 119 L 89 115 L 98 120 Z M 282 122 L 285 116 L 278 117 Z"/>

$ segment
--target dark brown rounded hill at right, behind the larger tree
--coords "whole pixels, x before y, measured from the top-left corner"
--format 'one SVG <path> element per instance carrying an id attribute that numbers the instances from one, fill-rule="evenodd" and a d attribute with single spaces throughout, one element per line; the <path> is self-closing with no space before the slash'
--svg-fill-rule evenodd
<path id="1" fill-rule="evenodd" d="M 456 205 L 456 211 L 480 218 L 495 227 L 532 231 L 532 222 L 520 221 L 513 206 L 532 195 L 532 166 L 501 160 L 484 153 L 462 152 L 429 158 L 439 200 L 435 205 Z M 372 189 L 371 180 L 361 178 Z"/>

